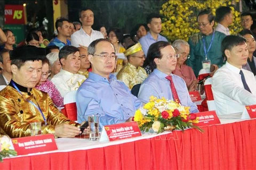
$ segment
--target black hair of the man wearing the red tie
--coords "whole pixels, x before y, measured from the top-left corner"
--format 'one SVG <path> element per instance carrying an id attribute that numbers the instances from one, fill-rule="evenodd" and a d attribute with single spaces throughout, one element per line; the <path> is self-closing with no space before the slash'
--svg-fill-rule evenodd
<path id="1" fill-rule="evenodd" d="M 167 46 L 170 46 L 171 44 L 166 41 L 157 41 L 156 43 L 153 43 L 148 48 L 147 58 L 143 64 L 143 67 L 146 67 L 147 65 L 150 66 L 150 70 L 156 69 L 156 63 L 154 61 L 155 58 L 162 58 L 161 49 Z"/>

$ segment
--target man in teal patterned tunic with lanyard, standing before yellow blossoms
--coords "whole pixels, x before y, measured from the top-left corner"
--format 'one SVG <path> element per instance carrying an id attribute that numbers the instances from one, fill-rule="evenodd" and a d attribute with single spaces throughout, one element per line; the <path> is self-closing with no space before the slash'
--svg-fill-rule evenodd
<path id="1" fill-rule="evenodd" d="M 221 53 L 221 41 L 225 34 L 213 29 L 214 15 L 210 10 L 201 11 L 197 15 L 197 24 L 200 32 L 192 35 L 188 44 L 190 46 L 190 58 L 188 66 L 192 67 L 196 77 L 201 69 L 210 72 L 211 65 L 214 66 L 212 74 L 223 65 Z"/>

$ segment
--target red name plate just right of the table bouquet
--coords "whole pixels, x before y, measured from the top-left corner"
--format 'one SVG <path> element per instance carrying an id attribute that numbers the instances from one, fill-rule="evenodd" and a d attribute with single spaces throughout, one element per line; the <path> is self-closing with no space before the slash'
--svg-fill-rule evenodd
<path id="1" fill-rule="evenodd" d="M 213 124 L 220 124 L 219 117 L 215 111 L 200 112 L 196 114 L 199 117 L 199 123 L 195 123 L 196 126 L 208 126 Z"/>

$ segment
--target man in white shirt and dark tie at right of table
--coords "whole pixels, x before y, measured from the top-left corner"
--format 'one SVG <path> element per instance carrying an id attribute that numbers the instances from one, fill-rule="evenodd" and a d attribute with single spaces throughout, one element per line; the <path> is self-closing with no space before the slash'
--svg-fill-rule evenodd
<path id="1" fill-rule="evenodd" d="M 256 104 L 256 80 L 252 72 L 242 69 L 249 55 L 246 39 L 227 36 L 222 40 L 221 51 L 227 62 L 212 79 L 217 114 L 241 113 L 244 106 Z"/>

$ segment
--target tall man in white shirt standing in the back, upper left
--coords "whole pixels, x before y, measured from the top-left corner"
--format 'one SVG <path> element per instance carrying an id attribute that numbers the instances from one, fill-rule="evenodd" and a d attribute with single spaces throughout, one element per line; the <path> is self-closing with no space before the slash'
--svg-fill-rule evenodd
<path id="1" fill-rule="evenodd" d="M 71 35 L 71 45 L 75 47 L 88 47 L 92 41 L 104 38 L 100 31 L 92 29 L 94 22 L 93 12 L 90 8 L 84 8 L 79 12 L 79 20 L 82 22 L 82 28 Z"/>

